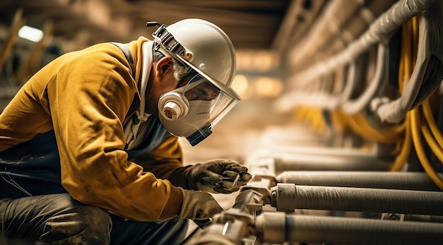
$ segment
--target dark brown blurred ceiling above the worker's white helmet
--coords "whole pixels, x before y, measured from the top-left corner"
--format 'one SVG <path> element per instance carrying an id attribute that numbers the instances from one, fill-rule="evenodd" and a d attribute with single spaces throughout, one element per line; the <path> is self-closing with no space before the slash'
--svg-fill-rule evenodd
<path id="1" fill-rule="evenodd" d="M 305 1 L 309 2 L 309 1 Z M 269 49 L 278 32 L 290 0 L 4 0 L 0 20 L 10 25 L 23 9 L 28 25 L 53 25 L 53 35 L 79 40 L 84 45 L 125 42 L 154 29 L 146 21 L 169 25 L 183 18 L 202 18 L 219 25 L 237 49 Z"/>

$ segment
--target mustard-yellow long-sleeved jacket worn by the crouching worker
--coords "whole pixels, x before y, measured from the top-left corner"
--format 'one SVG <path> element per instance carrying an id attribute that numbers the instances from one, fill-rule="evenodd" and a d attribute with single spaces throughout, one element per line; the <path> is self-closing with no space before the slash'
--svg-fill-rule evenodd
<path id="1" fill-rule="evenodd" d="M 74 199 L 132 220 L 177 215 L 182 200 L 175 186 L 186 187 L 188 169 L 178 138 L 168 136 L 137 163 L 125 151 L 122 121 L 139 102 L 139 57 L 146 41 L 139 37 L 127 44 L 135 78 L 125 56 L 110 43 L 47 64 L 0 114 L 0 152 L 53 130 L 62 186 Z M 175 210 L 163 212 L 167 204 Z"/>

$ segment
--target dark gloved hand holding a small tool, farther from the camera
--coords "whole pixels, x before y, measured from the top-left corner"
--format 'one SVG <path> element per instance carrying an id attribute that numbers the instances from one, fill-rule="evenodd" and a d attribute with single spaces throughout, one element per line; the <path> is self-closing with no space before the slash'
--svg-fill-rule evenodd
<path id="1" fill-rule="evenodd" d="M 236 183 L 236 179 L 239 175 Z M 214 185 L 204 185 L 203 177 L 228 177 L 228 180 L 220 181 Z M 206 191 L 210 193 L 233 193 L 238 191 L 252 179 L 248 168 L 231 160 L 217 159 L 205 163 L 197 163 L 192 166 L 188 174 L 188 185 L 192 190 Z"/>

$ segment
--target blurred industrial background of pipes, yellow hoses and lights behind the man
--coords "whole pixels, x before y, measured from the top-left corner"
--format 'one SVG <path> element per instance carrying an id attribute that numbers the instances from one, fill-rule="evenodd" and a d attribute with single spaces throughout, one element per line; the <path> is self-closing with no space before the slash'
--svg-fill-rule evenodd
<path id="1" fill-rule="evenodd" d="M 183 141 L 185 164 L 423 172 L 443 189 L 442 13 L 431 0 L 2 0 L 0 109 L 65 52 L 202 18 L 234 43 L 243 100 L 205 141 Z"/>

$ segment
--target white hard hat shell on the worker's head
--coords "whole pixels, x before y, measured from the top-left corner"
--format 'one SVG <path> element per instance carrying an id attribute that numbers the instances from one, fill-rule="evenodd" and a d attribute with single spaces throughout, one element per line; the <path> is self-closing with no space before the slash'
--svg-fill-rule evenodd
<path id="1" fill-rule="evenodd" d="M 200 73 L 214 86 L 235 100 L 231 89 L 236 73 L 236 52 L 228 35 L 207 20 L 189 18 L 172 25 L 161 25 L 153 37 L 166 51 Z"/>

